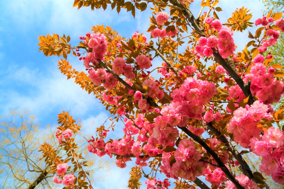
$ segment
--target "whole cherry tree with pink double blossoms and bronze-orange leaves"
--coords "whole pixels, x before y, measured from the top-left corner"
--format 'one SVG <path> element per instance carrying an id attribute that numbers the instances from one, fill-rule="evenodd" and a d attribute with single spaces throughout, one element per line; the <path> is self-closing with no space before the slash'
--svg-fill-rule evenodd
<path id="1" fill-rule="evenodd" d="M 127 9 L 150 7 L 151 38 L 136 31 L 130 38 L 119 35 L 109 26 L 94 26 L 80 36 L 78 46 L 70 45 L 70 36 L 40 36 L 40 51 L 46 56 L 63 56 L 58 61 L 61 72 L 89 93 L 93 93 L 111 115 L 111 124 L 97 128 L 88 141 L 88 150 L 97 156 L 116 158 L 131 169 L 129 188 L 139 188 L 142 175 L 147 188 L 264 188 L 262 174 L 284 184 L 284 136 L 280 122 L 283 105 L 273 109 L 284 93 L 283 66 L 270 65 L 275 45 L 284 32 L 282 13 L 272 13 L 251 21 L 245 7 L 236 9 L 222 23 L 218 0 L 202 0 L 199 15 L 193 15 L 187 0 L 75 0 L 74 7 Z M 206 12 L 204 12 L 206 11 Z M 204 12 L 204 13 L 202 13 Z M 253 34 L 249 28 L 256 26 Z M 250 41 L 236 51 L 235 32 L 248 34 Z M 188 44 L 186 47 L 184 44 Z M 67 61 L 72 54 L 85 65 L 76 71 Z M 160 61 L 158 67 L 153 59 Z M 210 66 L 206 66 L 210 64 Z M 156 76 L 159 74 L 159 77 Z M 115 122 L 124 123 L 124 135 L 110 139 Z M 80 163 L 72 154 L 76 146 L 72 133 L 80 133 L 74 120 L 59 114 L 56 133 L 59 143 L 70 151 L 74 170 L 65 174 L 68 165 L 56 161 L 56 183 L 65 188 L 93 188 Z M 237 150 L 242 149 L 241 151 Z M 252 172 L 242 155 L 261 157 L 260 172 Z M 46 157 L 52 155 L 46 150 Z M 232 172 L 239 167 L 240 175 Z M 150 172 L 145 172 L 145 167 Z M 149 169 L 147 169 L 149 170 Z M 159 180 L 156 172 L 168 179 Z M 154 173 L 154 174 L 151 174 Z M 207 186 L 199 176 L 211 183 Z"/>

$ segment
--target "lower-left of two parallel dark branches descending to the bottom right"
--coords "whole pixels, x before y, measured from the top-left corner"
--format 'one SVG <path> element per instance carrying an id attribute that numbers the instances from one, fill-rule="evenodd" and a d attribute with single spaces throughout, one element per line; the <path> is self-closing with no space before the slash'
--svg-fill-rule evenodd
<path id="1" fill-rule="evenodd" d="M 244 189 L 244 187 L 242 187 L 240 185 L 240 183 L 238 182 L 238 180 L 235 179 L 235 177 L 231 174 L 230 170 L 228 170 L 228 168 L 225 166 L 225 164 L 222 162 L 222 160 L 220 159 L 219 155 L 216 154 L 216 152 L 210 148 L 205 141 L 203 141 L 199 136 L 193 134 L 191 131 L 189 131 L 187 128 L 185 127 L 178 127 L 180 128 L 183 132 L 185 132 L 188 136 L 190 136 L 193 140 L 195 140 L 196 142 L 198 142 L 213 158 L 214 160 L 217 162 L 218 166 L 220 167 L 220 169 L 225 173 L 225 175 L 228 177 L 229 180 L 232 181 L 232 183 L 238 188 L 238 189 Z"/>

